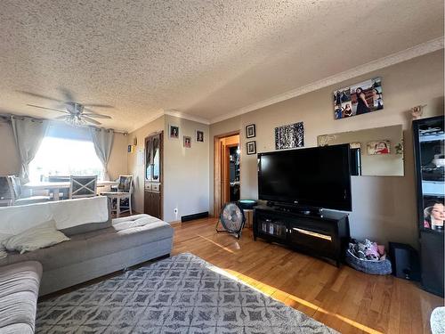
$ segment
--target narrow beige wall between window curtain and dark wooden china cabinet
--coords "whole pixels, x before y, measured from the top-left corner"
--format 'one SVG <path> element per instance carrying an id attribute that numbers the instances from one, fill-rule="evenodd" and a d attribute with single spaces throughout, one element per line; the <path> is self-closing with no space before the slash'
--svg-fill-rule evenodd
<path id="1" fill-rule="evenodd" d="M 162 131 L 164 129 L 164 123 L 165 118 L 164 116 L 161 116 L 127 136 L 127 145 L 133 144 L 134 138 L 137 138 L 136 151 L 127 154 L 127 170 L 128 174 L 133 175 L 134 179 L 133 208 L 140 213 L 143 212 L 144 140 L 149 134 Z"/>

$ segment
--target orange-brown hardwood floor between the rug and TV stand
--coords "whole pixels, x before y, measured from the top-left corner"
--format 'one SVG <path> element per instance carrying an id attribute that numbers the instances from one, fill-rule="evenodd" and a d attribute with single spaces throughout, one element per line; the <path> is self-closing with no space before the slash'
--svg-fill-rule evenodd
<path id="1" fill-rule="evenodd" d="M 190 252 L 342 333 L 429 333 L 440 297 L 410 281 L 339 269 L 262 240 L 214 231 L 214 218 L 174 225 L 173 255 Z"/>

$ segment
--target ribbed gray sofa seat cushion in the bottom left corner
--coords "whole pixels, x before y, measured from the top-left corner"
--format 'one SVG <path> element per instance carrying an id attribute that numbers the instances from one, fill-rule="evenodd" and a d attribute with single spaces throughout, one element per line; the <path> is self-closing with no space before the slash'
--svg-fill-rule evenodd
<path id="1" fill-rule="evenodd" d="M 0 267 L 0 332 L 34 332 L 41 277 L 37 262 Z"/>

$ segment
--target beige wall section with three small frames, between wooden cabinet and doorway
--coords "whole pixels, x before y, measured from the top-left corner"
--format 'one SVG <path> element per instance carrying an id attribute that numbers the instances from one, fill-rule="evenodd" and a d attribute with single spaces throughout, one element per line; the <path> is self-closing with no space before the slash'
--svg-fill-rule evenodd
<path id="1" fill-rule="evenodd" d="M 181 216 L 208 211 L 208 126 L 187 119 L 166 116 L 165 134 L 168 126 L 179 126 L 179 139 L 164 141 L 164 220 L 173 222 Z M 197 143 L 195 131 L 204 132 L 204 143 Z M 184 148 L 182 136 L 191 137 L 191 148 Z M 174 214 L 178 209 L 178 215 Z"/>

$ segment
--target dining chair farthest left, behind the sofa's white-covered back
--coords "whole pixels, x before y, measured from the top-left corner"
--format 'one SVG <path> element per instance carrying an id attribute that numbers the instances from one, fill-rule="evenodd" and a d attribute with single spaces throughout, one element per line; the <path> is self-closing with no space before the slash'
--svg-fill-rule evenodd
<path id="1" fill-rule="evenodd" d="M 0 204 L 6 206 L 26 205 L 47 202 L 49 196 L 24 196 L 20 178 L 15 175 L 0 176 Z"/>

